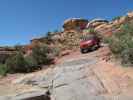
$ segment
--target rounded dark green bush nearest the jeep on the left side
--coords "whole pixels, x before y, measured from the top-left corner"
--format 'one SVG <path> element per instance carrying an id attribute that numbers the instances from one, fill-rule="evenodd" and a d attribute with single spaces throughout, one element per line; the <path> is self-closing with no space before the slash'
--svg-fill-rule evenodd
<path id="1" fill-rule="evenodd" d="M 38 65 L 50 64 L 52 58 L 49 57 L 51 49 L 47 45 L 36 45 L 32 50 L 32 56 Z"/>

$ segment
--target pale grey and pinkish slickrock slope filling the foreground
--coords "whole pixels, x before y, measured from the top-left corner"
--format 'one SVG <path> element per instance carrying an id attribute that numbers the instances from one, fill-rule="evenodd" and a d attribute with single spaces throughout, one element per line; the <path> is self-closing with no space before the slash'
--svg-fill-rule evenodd
<path id="1" fill-rule="evenodd" d="M 12 80 L 19 91 L 0 93 L 0 100 L 48 100 L 46 92 L 51 100 L 132 100 L 133 78 L 122 67 L 99 59 L 101 51 L 75 52 L 53 68 L 22 75 Z"/>

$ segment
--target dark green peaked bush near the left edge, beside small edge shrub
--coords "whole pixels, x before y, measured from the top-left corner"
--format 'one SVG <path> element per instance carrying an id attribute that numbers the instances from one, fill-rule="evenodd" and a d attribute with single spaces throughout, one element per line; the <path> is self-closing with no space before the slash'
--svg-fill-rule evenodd
<path id="1" fill-rule="evenodd" d="M 16 55 L 8 58 L 6 61 L 6 65 L 10 73 L 28 72 L 28 64 L 25 61 L 23 54 L 21 52 L 18 52 Z"/>

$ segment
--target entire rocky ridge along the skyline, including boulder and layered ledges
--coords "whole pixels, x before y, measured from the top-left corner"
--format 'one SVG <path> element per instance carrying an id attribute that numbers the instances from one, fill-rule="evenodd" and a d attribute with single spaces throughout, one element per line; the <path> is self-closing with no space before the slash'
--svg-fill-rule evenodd
<path id="1" fill-rule="evenodd" d="M 82 18 L 71 18 L 64 21 L 64 31 L 53 32 L 50 40 L 41 37 L 31 40 L 31 44 L 25 47 L 25 51 L 31 53 L 35 45 L 47 44 L 55 46 L 60 50 L 77 49 L 79 47 L 80 37 L 83 35 L 85 28 L 94 28 L 99 34 L 111 36 L 113 33 L 120 31 L 120 26 L 127 22 L 133 22 L 133 12 L 129 12 L 126 16 L 121 16 L 114 21 L 106 19 L 93 19 L 88 21 Z"/>

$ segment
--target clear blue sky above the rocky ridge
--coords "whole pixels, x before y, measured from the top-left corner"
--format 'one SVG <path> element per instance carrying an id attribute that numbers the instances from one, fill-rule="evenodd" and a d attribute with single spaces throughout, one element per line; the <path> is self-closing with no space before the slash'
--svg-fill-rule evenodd
<path id="1" fill-rule="evenodd" d="M 0 46 L 27 44 L 68 18 L 111 20 L 132 10 L 133 0 L 0 0 Z"/>

